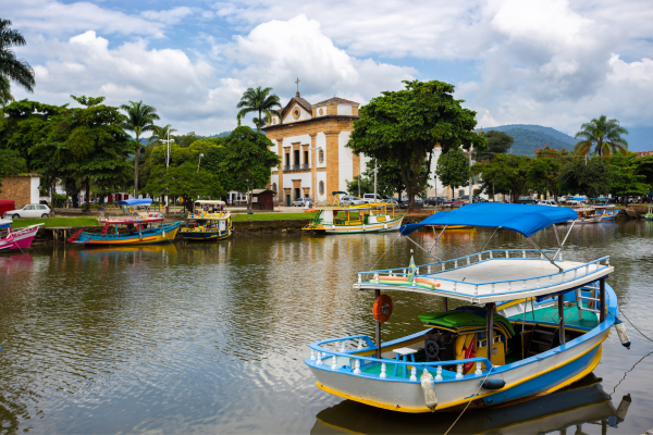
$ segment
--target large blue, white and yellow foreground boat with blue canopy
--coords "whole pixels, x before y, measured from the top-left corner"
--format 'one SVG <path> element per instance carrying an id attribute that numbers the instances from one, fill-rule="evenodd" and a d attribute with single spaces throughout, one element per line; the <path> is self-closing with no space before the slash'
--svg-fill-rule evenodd
<path id="1" fill-rule="evenodd" d="M 609 257 L 564 260 L 571 228 L 555 250 L 543 250 L 531 238 L 574 219 L 567 208 L 490 202 L 404 225 L 404 236 L 424 225 L 443 225 L 442 232 L 448 225 L 509 229 L 533 249 L 484 250 L 419 266 L 411 258 L 399 269 L 360 272 L 354 288 L 377 296 L 375 336 L 310 344 L 305 363 L 318 387 L 377 408 L 419 413 L 505 405 L 587 376 L 599 364 L 612 326 L 624 346 L 630 341 L 615 291 L 605 283 L 614 271 Z M 424 330 L 382 343 L 381 325 L 392 314 L 386 290 L 434 296 L 443 310 L 419 315 Z M 468 306 L 448 310 L 449 299 Z"/>

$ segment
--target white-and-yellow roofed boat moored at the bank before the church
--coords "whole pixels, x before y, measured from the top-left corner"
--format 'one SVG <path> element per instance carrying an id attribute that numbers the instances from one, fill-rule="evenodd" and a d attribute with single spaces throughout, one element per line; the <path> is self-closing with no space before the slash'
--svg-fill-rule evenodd
<path id="1" fill-rule="evenodd" d="M 393 203 L 325 206 L 307 210 L 315 213 L 303 229 L 324 234 L 382 233 L 397 231 L 405 214 L 395 214 Z"/>

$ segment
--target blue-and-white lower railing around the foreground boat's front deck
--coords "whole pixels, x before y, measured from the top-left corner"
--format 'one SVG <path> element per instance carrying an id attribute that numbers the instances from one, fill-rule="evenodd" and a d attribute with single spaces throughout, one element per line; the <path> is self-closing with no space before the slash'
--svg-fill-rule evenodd
<path id="1" fill-rule="evenodd" d="M 366 346 L 364 346 L 364 344 Z M 329 348 L 331 346 L 331 348 Z M 308 346 L 310 348 L 310 360 L 315 361 L 316 365 L 324 365 L 322 369 L 329 366 L 332 371 L 346 372 L 355 375 L 362 375 L 367 377 L 387 377 L 387 364 L 393 364 L 399 368 L 410 369 L 410 381 L 419 382 L 417 377 L 417 369 L 435 369 L 436 375 L 433 377 L 434 382 L 443 381 L 442 366 L 443 365 L 456 365 L 455 380 L 469 380 L 473 377 L 484 376 L 481 364 L 485 368 L 494 368 L 492 362 L 485 357 L 468 358 L 463 360 L 454 361 L 431 361 L 431 362 L 414 362 L 414 361 L 402 361 L 390 358 L 375 358 L 375 357 L 364 357 L 358 355 L 360 352 L 377 350 L 373 341 L 367 335 L 354 335 L 350 337 L 331 338 L 322 341 L 312 343 Z M 365 373 L 361 369 L 366 365 L 374 363 L 381 364 L 381 372 L 379 374 Z M 463 368 L 465 364 L 476 363 L 476 371 L 473 374 L 464 375 Z M 404 370 L 401 371 L 404 373 Z M 406 370 L 407 373 L 407 370 Z M 451 381 L 451 380 L 449 380 Z"/>

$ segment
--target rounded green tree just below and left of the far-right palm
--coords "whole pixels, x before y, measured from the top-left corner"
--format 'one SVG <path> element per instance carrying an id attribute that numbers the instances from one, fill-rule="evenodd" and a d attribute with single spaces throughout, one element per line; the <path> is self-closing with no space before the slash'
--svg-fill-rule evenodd
<path id="1" fill-rule="evenodd" d="M 592 157 L 586 163 L 583 159 L 569 159 L 560 169 L 558 183 L 564 194 L 582 194 L 588 198 L 607 195 L 611 189 L 612 173 L 609 166 L 600 157 Z"/>

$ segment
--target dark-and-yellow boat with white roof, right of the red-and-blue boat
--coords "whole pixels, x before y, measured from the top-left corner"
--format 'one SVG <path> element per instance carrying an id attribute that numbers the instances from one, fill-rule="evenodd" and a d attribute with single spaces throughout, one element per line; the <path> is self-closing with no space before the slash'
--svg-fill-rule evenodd
<path id="1" fill-rule="evenodd" d="M 226 203 L 219 200 L 198 200 L 186 217 L 186 227 L 180 232 L 186 240 L 223 240 L 231 236 L 233 225 Z"/>

